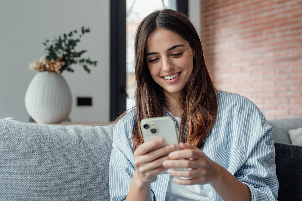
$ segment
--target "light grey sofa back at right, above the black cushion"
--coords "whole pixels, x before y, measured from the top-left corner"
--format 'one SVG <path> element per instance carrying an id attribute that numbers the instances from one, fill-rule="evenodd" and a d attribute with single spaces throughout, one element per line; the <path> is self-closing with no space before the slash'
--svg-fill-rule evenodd
<path id="1" fill-rule="evenodd" d="M 276 143 L 291 144 L 288 131 L 302 127 L 302 117 L 268 120 L 274 127 L 273 139 Z"/>

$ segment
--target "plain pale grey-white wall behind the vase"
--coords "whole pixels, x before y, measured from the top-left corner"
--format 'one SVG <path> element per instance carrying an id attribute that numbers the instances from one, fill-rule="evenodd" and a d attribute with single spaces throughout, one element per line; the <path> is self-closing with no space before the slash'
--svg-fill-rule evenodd
<path id="1" fill-rule="evenodd" d="M 73 65 L 63 72 L 72 91 L 70 119 L 74 122 L 109 120 L 110 1 L 109 0 L 2 0 L 0 1 L 0 118 L 27 122 L 24 96 L 33 70 L 28 64 L 45 55 L 42 42 L 82 26 L 85 34 L 77 50 L 98 61 L 90 74 Z M 77 107 L 77 96 L 92 96 L 92 107 Z"/>

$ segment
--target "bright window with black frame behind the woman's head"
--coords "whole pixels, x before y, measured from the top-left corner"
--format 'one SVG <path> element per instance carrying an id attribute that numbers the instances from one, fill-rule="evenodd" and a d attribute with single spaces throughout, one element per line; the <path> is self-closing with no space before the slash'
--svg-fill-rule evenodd
<path id="1" fill-rule="evenodd" d="M 110 119 L 113 120 L 135 106 L 134 36 L 139 22 L 163 8 L 188 16 L 188 0 L 111 0 L 110 6 Z"/>

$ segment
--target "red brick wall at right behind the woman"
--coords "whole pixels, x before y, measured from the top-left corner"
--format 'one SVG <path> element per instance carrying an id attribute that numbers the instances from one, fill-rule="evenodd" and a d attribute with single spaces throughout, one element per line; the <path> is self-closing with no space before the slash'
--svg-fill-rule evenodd
<path id="1" fill-rule="evenodd" d="M 302 116 L 301 0 L 201 0 L 201 41 L 217 88 Z"/>

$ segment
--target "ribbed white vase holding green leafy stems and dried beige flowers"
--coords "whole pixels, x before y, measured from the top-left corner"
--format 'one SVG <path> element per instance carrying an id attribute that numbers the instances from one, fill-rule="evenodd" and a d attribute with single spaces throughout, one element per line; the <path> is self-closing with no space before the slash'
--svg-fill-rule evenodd
<path id="1" fill-rule="evenodd" d="M 82 37 L 89 32 L 89 28 L 82 27 L 80 31 L 70 31 L 69 34 L 63 34 L 52 41 L 45 40 L 43 45 L 46 46 L 47 55 L 30 64 L 29 69 L 38 72 L 27 88 L 25 107 L 37 123 L 59 123 L 69 116 L 72 96 L 61 73 L 73 72 L 73 64 L 82 65 L 84 70 L 90 73 L 88 65 L 97 65 L 97 61 L 82 58 L 82 54 L 87 50 L 75 50 L 80 42 L 79 38 L 74 38 L 75 35 Z"/>

